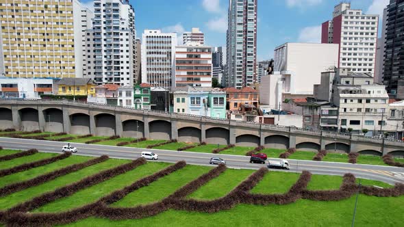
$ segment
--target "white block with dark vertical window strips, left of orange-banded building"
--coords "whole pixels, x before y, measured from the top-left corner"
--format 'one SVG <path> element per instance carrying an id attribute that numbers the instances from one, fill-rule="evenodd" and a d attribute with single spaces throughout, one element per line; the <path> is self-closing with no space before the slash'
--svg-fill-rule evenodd
<path id="1" fill-rule="evenodd" d="M 152 87 L 171 88 L 175 85 L 176 33 L 144 30 L 142 34 L 142 83 Z M 194 60 L 192 54 L 184 60 Z"/>

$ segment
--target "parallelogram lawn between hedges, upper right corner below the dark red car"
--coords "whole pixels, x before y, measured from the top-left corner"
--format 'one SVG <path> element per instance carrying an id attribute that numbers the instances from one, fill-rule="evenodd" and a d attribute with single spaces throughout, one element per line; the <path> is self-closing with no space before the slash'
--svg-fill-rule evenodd
<path id="1" fill-rule="evenodd" d="M 212 179 L 197 191 L 190 194 L 188 198 L 199 200 L 212 200 L 226 196 L 237 185 L 242 183 L 247 177 L 253 174 L 255 170 L 232 170 L 227 169 L 218 177 Z"/>

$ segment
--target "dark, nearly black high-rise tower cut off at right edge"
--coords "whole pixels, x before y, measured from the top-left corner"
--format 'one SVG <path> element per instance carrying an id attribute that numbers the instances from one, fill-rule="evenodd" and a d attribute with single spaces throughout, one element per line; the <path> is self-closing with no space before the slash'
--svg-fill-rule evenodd
<path id="1" fill-rule="evenodd" d="M 400 81 L 404 79 L 404 1 L 390 0 L 387 10 L 386 49 L 384 52 L 383 84 L 388 94 L 404 98 Z"/>

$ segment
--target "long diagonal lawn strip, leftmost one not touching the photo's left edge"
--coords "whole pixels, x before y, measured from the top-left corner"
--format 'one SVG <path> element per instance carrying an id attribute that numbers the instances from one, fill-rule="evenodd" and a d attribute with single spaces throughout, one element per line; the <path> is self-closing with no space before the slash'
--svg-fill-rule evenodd
<path id="1" fill-rule="evenodd" d="M 77 191 L 72 196 L 61 198 L 45 206 L 34 210 L 34 212 L 58 212 L 73 209 L 90 202 L 95 202 L 99 198 L 108 195 L 112 191 L 122 189 L 127 185 L 131 185 L 144 176 L 151 175 L 157 171 L 166 168 L 170 163 L 155 163 L 148 162 L 147 164 L 140 165 L 138 168 L 111 178 L 92 187 Z M 148 196 L 145 196 L 148 197 Z"/>

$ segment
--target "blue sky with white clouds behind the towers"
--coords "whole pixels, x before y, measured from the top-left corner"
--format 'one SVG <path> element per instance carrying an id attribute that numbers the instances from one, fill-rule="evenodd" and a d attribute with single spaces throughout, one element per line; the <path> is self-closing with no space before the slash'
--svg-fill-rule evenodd
<path id="1" fill-rule="evenodd" d="M 81 0 L 92 7 L 92 0 Z M 273 57 L 273 50 L 285 42 L 320 42 L 321 23 L 331 20 L 333 7 L 341 0 L 257 0 L 257 59 Z M 379 14 L 389 0 L 351 0 L 352 9 Z M 177 32 L 199 27 L 205 44 L 226 46 L 229 0 L 129 0 L 135 9 L 137 37 L 144 29 Z M 379 23 L 379 34 L 381 31 Z"/>

